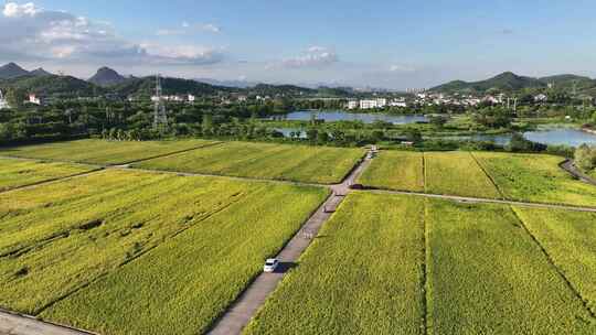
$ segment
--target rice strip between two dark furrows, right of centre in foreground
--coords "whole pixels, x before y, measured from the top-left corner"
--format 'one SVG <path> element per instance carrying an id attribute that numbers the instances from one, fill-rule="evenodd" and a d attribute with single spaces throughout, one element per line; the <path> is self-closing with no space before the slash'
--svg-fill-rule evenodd
<path id="1" fill-rule="evenodd" d="M 510 207 L 429 201 L 426 210 L 430 334 L 596 332 Z"/>

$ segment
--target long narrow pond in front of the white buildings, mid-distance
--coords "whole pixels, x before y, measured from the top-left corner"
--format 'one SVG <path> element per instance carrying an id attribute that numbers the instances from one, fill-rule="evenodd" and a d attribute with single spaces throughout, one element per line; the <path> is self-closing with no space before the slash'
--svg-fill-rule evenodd
<path id="1" fill-rule="evenodd" d="M 341 110 L 297 110 L 281 117 L 281 120 L 288 121 L 309 121 L 312 117 L 324 120 L 326 122 L 333 121 L 362 121 L 372 123 L 374 121 L 385 121 L 393 125 L 406 125 L 416 122 L 427 122 L 428 119 L 424 116 L 394 116 L 380 112 L 347 112 Z M 276 117 L 278 119 L 278 117 Z"/>

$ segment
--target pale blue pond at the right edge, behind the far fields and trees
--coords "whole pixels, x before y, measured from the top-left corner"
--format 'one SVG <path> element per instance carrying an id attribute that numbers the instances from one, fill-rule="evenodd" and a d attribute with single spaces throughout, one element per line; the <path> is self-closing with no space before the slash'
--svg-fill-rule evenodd
<path id="1" fill-rule="evenodd" d="M 587 133 L 578 129 L 552 128 L 545 130 L 526 131 L 523 137 L 532 142 L 550 145 L 579 147 L 583 143 L 596 144 L 596 134 Z M 446 137 L 448 140 L 491 141 L 505 145 L 511 141 L 511 134 L 475 134 L 462 137 Z"/>

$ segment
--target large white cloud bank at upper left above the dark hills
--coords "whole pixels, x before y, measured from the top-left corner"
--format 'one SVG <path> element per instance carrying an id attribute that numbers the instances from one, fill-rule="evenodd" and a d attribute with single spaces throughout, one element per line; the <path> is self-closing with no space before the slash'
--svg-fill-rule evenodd
<path id="1" fill-rule="evenodd" d="M 34 3 L 8 2 L 0 15 L 0 58 L 8 57 L 17 57 L 15 61 L 29 58 L 201 65 L 220 62 L 223 54 L 220 50 L 193 45 L 173 48 L 157 45 L 147 48 L 140 43 L 120 37 L 108 22 L 41 9 Z"/>

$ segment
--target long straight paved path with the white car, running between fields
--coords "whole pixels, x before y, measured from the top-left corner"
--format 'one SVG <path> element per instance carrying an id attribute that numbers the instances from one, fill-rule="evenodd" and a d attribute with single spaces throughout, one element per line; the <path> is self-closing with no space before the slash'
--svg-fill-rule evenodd
<path id="1" fill-rule="evenodd" d="M 244 293 L 232 304 L 225 314 L 215 323 L 209 334 L 231 335 L 240 334 L 242 329 L 251 322 L 258 309 L 265 303 L 267 298 L 275 291 L 286 271 L 298 261 L 302 252 L 311 244 L 310 238 L 305 238 L 304 234 L 317 236 L 321 226 L 329 219 L 336 208 L 343 202 L 345 195 L 350 192 L 350 185 L 354 183 L 358 176 L 370 163 L 364 160 L 354 169 L 343 183 L 331 186 L 333 194 L 317 209 L 317 212 L 307 220 L 302 229 L 288 242 L 288 245 L 277 256 L 281 261 L 280 269 L 275 273 L 262 273 L 244 291 Z"/>

